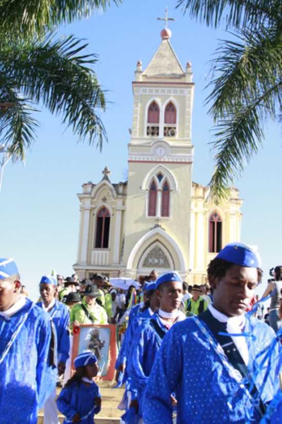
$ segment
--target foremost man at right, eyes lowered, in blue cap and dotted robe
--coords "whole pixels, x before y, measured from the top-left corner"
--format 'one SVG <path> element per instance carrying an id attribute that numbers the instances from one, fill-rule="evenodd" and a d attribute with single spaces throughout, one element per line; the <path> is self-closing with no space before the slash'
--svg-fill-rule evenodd
<path id="1" fill-rule="evenodd" d="M 257 254 L 231 243 L 213 259 L 208 278 L 213 304 L 198 317 L 175 324 L 155 358 L 143 401 L 147 424 L 258 423 L 278 389 L 275 334 L 245 314 L 260 281 Z"/>

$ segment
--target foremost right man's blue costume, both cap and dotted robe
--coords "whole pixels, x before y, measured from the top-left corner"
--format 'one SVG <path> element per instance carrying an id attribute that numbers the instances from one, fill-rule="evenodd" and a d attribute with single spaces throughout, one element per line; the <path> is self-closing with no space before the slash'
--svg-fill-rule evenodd
<path id="1" fill-rule="evenodd" d="M 244 267 L 260 266 L 257 254 L 240 243 L 227 245 L 216 258 Z M 162 424 L 172 424 L 172 392 L 177 399 L 177 424 L 255 424 L 261 418 L 261 403 L 274 397 L 278 389 L 279 346 L 273 345 L 273 330 L 246 315 L 241 333 L 229 333 L 228 345 L 232 345 L 232 337 L 246 340 L 249 360 L 244 377 L 211 330 L 212 319 L 208 323 L 204 315 L 207 312 L 173 325 L 165 336 L 144 395 L 145 424 L 158 424 L 160 419 Z"/>

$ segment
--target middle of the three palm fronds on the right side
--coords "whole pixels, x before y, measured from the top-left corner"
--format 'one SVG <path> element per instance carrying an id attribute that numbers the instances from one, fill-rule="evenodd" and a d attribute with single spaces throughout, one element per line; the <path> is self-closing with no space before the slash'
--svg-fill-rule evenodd
<path id="1" fill-rule="evenodd" d="M 246 105 L 275 85 L 282 75 L 282 32 L 242 31 L 237 42 L 222 41 L 212 62 L 213 89 L 206 99 L 214 120 Z M 273 105 L 271 110 L 275 113 Z"/>

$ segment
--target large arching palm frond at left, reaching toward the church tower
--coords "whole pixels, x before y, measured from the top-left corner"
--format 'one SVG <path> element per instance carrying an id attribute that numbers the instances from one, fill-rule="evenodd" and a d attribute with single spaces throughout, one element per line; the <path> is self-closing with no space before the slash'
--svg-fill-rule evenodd
<path id="1" fill-rule="evenodd" d="M 96 141 L 101 149 L 107 135 L 98 110 L 105 110 L 105 94 L 89 67 L 97 56 L 85 54 L 86 47 L 73 36 L 5 44 L 0 50 L 0 71 L 25 97 L 61 114 L 79 140 Z"/>

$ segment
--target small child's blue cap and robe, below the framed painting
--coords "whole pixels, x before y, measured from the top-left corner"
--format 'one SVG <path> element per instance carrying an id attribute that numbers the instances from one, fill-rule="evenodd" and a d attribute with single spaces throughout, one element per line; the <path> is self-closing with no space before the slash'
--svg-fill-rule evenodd
<path id="1" fill-rule="evenodd" d="M 74 360 L 74 366 L 84 367 L 97 362 L 96 356 L 92 352 L 83 352 Z M 86 385 L 83 381 L 74 381 L 70 386 L 65 386 L 57 399 L 57 408 L 65 415 L 64 424 L 73 422 L 75 414 L 79 414 L 81 424 L 93 424 L 94 415 L 101 410 L 100 406 L 95 406 L 94 400 L 101 397 L 99 388 L 94 381 Z"/>

